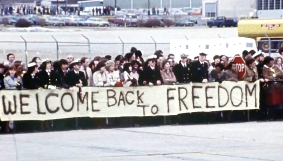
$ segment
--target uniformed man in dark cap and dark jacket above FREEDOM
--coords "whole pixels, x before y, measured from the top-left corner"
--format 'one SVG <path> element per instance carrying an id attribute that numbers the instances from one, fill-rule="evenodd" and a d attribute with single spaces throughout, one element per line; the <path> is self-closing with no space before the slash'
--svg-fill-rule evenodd
<path id="1" fill-rule="evenodd" d="M 199 60 L 191 64 L 192 82 L 207 83 L 208 82 L 208 64 L 205 62 L 206 54 L 200 53 Z"/>

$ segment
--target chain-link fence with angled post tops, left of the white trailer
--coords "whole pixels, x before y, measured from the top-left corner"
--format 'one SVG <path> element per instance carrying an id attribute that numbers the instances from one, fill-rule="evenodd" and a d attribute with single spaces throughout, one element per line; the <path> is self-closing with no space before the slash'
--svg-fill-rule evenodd
<path id="1" fill-rule="evenodd" d="M 185 38 L 185 36 L 184 36 Z M 10 38 L 13 39 L 13 38 Z M 26 63 L 33 57 L 39 56 L 50 58 L 51 60 L 58 60 L 66 58 L 67 55 L 72 54 L 75 57 L 94 58 L 95 56 L 116 56 L 118 54 L 124 55 L 129 52 L 133 46 L 141 50 L 144 56 L 152 55 L 157 49 L 161 49 L 169 53 L 169 42 L 157 42 L 152 36 L 149 40 L 151 42 L 127 42 L 118 36 L 120 42 L 90 42 L 85 35 L 81 37 L 66 37 L 46 36 L 42 37 L 42 41 L 29 41 L 29 37 L 18 36 L 17 41 L 0 41 L 0 53 L 2 60 L 6 59 L 6 54 L 14 53 L 17 60 L 24 60 Z M 20 41 L 21 40 L 21 41 Z"/>

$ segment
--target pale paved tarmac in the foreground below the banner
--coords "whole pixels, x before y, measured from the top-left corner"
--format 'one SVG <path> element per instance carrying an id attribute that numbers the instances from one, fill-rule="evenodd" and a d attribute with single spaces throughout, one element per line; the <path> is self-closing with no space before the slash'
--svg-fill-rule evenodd
<path id="1" fill-rule="evenodd" d="M 282 131 L 282 122 L 250 122 L 14 137 L 19 161 L 282 161 Z M 16 160 L 13 135 L 0 135 L 0 160 Z"/>

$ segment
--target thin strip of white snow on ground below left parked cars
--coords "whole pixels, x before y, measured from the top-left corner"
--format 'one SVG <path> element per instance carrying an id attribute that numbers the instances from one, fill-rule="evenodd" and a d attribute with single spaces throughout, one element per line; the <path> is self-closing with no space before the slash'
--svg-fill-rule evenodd
<path id="1" fill-rule="evenodd" d="M 74 32 L 74 31 L 90 31 L 88 29 L 57 29 L 57 28 L 44 28 L 44 27 L 25 27 L 25 28 L 1 28 L 1 32 Z"/>

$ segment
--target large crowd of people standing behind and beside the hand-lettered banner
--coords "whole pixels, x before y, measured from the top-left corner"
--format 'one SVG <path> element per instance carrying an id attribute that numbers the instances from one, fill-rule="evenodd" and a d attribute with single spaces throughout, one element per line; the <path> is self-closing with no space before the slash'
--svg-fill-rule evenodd
<path id="1" fill-rule="evenodd" d="M 283 48 L 279 49 L 283 54 Z M 7 61 L 0 64 L 1 89 L 57 89 L 73 90 L 85 86 L 155 86 L 172 83 L 209 83 L 239 81 L 236 63 L 225 55 L 215 55 L 213 62 L 206 59 L 206 53 L 200 53 L 194 60 L 181 53 L 180 62 L 175 62 L 174 54 L 167 57 L 161 50 L 143 58 L 141 51 L 132 47 L 124 56 L 114 59 L 110 55 L 97 56 L 90 60 L 86 57 L 75 59 L 69 55 L 66 59 L 52 62 L 48 58 L 34 57 L 25 68 L 22 61 L 15 61 L 13 53 L 7 55 Z M 240 55 L 239 55 L 240 56 Z M 261 51 L 243 51 L 246 61 L 244 81 L 262 83 L 260 94 L 260 112 L 251 115 L 254 119 L 282 118 L 283 76 L 282 58 L 266 56 Z M 150 87 L 149 87 L 150 88 Z M 234 112 L 233 112 L 234 113 Z M 236 118 L 243 112 L 235 112 Z M 267 115 L 268 114 L 268 115 Z M 184 114 L 193 115 L 193 114 Z M 208 117 L 208 115 L 211 115 Z M 206 114 L 210 119 L 219 117 L 219 113 Z M 231 111 L 228 112 L 228 117 Z M 182 119 L 178 116 L 178 119 Z M 223 113 L 221 112 L 221 117 Z M 233 118 L 233 116 L 232 116 Z M 0 118 L 1 119 L 1 118 Z M 178 122 L 178 119 L 176 122 Z M 229 118 L 231 119 L 231 118 Z M 173 119 L 174 120 L 174 119 Z M 176 120 L 176 119 L 175 119 Z M 9 132 L 9 123 L 4 123 L 5 132 Z M 15 127 L 15 126 L 14 126 Z M 40 129 L 49 129 L 48 121 L 40 122 Z"/>

